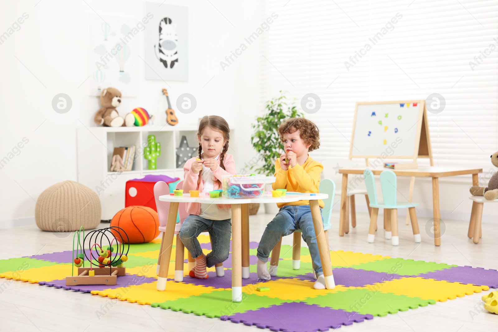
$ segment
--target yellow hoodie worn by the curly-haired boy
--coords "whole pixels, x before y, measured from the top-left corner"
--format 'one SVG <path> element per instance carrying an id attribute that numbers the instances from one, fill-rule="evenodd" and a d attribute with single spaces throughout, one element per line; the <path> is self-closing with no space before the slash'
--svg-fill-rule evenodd
<path id="1" fill-rule="evenodd" d="M 275 178 L 276 181 L 272 184 L 273 190 L 287 189 L 287 191 L 296 191 L 299 193 L 318 193 L 318 185 L 320 183 L 320 173 L 322 173 L 323 165 L 318 161 L 313 160 L 309 155 L 304 164 L 292 167 L 284 171 L 280 167 L 280 159 L 275 163 Z M 277 203 L 277 207 L 281 208 L 284 205 L 309 205 L 309 201 L 297 201 L 291 203 Z M 324 207 L 323 201 L 319 200 L 320 208 Z"/>

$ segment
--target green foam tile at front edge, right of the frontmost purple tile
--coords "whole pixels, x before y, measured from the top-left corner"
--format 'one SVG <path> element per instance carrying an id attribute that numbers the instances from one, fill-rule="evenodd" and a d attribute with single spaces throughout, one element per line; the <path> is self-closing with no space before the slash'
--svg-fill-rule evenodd
<path id="1" fill-rule="evenodd" d="M 370 314 L 373 316 L 386 316 L 387 314 L 395 314 L 398 311 L 417 309 L 418 307 L 436 303 L 434 300 L 423 300 L 368 289 L 348 289 L 343 292 L 319 295 L 299 301 L 316 304 L 320 307 L 343 309 L 349 312 L 355 311 L 363 315 Z"/>

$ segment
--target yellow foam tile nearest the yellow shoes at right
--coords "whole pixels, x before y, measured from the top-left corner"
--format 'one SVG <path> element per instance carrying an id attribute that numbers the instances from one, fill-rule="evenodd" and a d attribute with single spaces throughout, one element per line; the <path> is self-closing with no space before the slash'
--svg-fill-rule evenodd
<path id="1" fill-rule="evenodd" d="M 362 289 L 370 289 L 382 293 L 392 293 L 395 295 L 406 295 L 408 297 L 419 297 L 424 300 L 434 300 L 445 302 L 457 297 L 480 293 L 489 289 L 488 286 L 475 286 L 472 284 L 461 284 L 456 282 L 439 281 L 434 279 L 424 279 L 420 277 L 407 277 L 393 279 L 384 283 L 377 283 Z"/>

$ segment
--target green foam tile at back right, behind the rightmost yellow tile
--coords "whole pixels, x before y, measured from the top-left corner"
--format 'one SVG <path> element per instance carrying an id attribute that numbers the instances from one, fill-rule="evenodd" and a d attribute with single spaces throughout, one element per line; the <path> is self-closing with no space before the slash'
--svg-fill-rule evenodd
<path id="1" fill-rule="evenodd" d="M 408 276 L 449 269 L 450 267 L 453 266 L 457 265 L 424 262 L 422 260 L 402 259 L 402 258 L 386 258 L 386 259 L 376 260 L 373 262 L 351 265 L 351 267 L 354 269 L 395 273 L 399 275 L 408 275 Z"/>

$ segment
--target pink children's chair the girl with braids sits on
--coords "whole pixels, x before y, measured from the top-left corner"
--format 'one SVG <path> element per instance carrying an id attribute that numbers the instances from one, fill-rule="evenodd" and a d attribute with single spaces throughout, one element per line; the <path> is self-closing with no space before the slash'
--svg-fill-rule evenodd
<path id="1" fill-rule="evenodd" d="M 180 181 L 176 185 L 176 189 L 183 189 L 183 181 Z M 169 195 L 168 184 L 163 181 L 158 181 L 154 185 L 154 198 L 156 202 L 157 215 L 159 216 L 159 234 L 161 236 L 161 247 L 159 249 L 159 257 L 157 259 L 156 274 L 159 274 L 159 262 L 161 261 L 161 255 L 163 253 L 164 246 L 164 232 L 166 231 L 166 223 L 168 220 L 169 202 L 159 201 L 159 196 Z M 175 225 L 176 234 L 176 256 L 175 256 L 175 281 L 183 281 L 183 257 L 184 257 L 184 246 L 180 240 L 179 232 L 183 221 L 188 217 L 187 206 L 185 203 L 178 204 L 178 214 L 180 216 L 180 222 Z M 213 241 L 211 241 L 211 244 Z M 190 252 L 188 253 L 188 268 L 192 270 L 195 266 L 195 259 L 192 258 Z M 223 263 L 215 265 L 216 275 L 218 277 L 223 277 L 225 275 L 225 270 L 223 268 Z"/>

